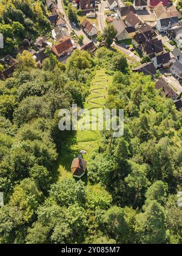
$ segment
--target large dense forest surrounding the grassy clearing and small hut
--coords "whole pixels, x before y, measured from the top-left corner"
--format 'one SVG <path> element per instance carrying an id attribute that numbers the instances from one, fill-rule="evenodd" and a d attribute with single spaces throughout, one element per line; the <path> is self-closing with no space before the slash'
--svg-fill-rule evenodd
<path id="1" fill-rule="evenodd" d="M 76 50 L 66 65 L 49 54 L 42 70 L 18 58 L 0 84 L 1 243 L 181 243 L 182 116 L 172 100 L 104 47 L 95 57 Z M 59 179 L 75 133 L 58 130 L 58 110 L 82 107 L 101 68 L 113 76 L 106 106 L 124 109 L 124 136 L 103 133 L 87 180 Z"/>

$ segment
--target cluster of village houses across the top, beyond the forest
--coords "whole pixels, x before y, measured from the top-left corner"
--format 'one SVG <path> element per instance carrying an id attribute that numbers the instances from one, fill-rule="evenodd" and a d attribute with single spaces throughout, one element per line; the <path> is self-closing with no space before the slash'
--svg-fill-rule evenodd
<path id="1" fill-rule="evenodd" d="M 62 57 L 71 55 L 76 48 L 94 52 L 98 46 L 96 36 L 100 27 L 99 22 L 97 26 L 95 22 L 92 22 L 92 18 L 94 21 L 96 19 L 99 21 L 101 15 L 104 15 L 104 26 L 106 23 L 112 24 L 117 31 L 115 43 L 125 47 L 128 52 L 137 53 L 140 58 L 146 57 L 146 63 L 143 61 L 142 64 L 132 69 L 133 72 L 143 72 L 157 80 L 157 69 L 168 70 L 170 75 L 182 83 L 182 53 L 180 51 L 182 22 L 180 12 L 172 0 L 134 0 L 130 4 L 124 0 L 106 0 L 102 13 L 100 7 L 103 0 L 70 0 L 69 2 L 85 17 L 80 23 L 79 30 L 82 31 L 87 42 L 78 44 L 75 41 L 73 34 L 78 36 L 76 24 L 65 18 L 65 13 L 63 15 L 60 12 L 56 0 L 46 0 L 47 9 L 51 13 L 47 19 L 52 24 L 52 36 L 51 38 L 39 36 L 34 43 L 35 47 L 29 47 L 29 52 L 39 67 L 47 57 L 45 54 L 47 47 L 59 61 L 62 61 Z M 171 49 L 166 47 L 165 38 L 167 42 L 173 41 L 175 46 L 171 45 Z M 123 46 L 123 42 L 127 40 L 130 40 L 130 45 Z M 25 41 L 30 44 L 28 39 Z M 17 62 L 10 55 L 2 58 L 0 62 L 7 66 L 7 69 L 0 73 L 1 80 L 5 80 L 12 75 Z M 177 102 L 178 109 L 181 108 L 180 93 L 169 85 L 164 74 L 157 81 L 156 88 L 162 89 L 163 94 L 173 99 L 175 103 Z"/>

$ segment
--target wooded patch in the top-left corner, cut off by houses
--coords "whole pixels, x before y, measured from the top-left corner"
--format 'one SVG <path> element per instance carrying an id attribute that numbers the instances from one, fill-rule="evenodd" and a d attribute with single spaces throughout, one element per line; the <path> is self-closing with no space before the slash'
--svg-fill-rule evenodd
<path id="1" fill-rule="evenodd" d="M 46 17 L 44 1 L 1 0 L 0 32 L 4 35 L 4 48 L 0 56 L 15 54 L 20 47 L 26 47 L 27 41 L 37 36 L 47 35 L 51 24 Z"/>

